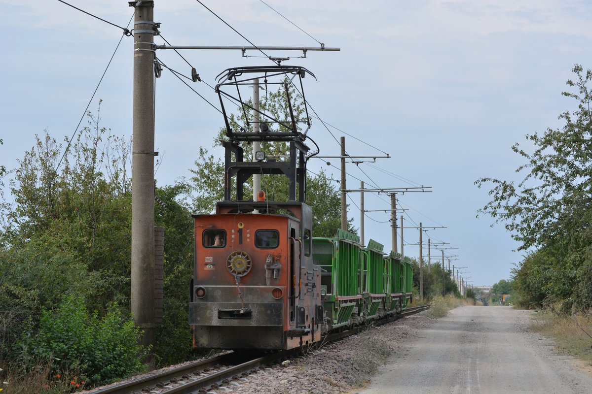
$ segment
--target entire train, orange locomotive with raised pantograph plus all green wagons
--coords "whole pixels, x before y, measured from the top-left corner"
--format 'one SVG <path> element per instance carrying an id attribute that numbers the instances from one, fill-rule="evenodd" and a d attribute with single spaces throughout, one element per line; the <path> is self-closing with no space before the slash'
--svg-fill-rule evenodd
<path id="1" fill-rule="evenodd" d="M 223 95 L 224 86 L 238 88 L 255 77 L 301 80 L 307 73 L 290 66 L 229 69 L 216 89 Z M 343 230 L 335 238 L 313 239 L 311 208 L 304 203 L 311 155 L 305 133 L 298 131 L 302 121 L 292 113 L 288 83 L 282 83 L 291 119 L 265 119 L 280 131 L 268 126 L 265 132 L 248 131 L 249 125 L 234 131 L 220 100 L 229 137 L 223 142 L 224 201 L 215 214 L 194 215 L 189 324 L 198 348 L 305 346 L 330 330 L 400 314 L 412 296 L 411 263 L 397 253 L 384 256 L 373 240 L 363 248 L 358 236 Z M 241 144 L 252 141 L 289 144 L 289 158 L 265 161 L 265 154 L 256 152 L 255 160 L 244 161 Z M 244 183 L 254 174 L 287 177 L 288 201 L 268 201 L 263 192 L 256 201 L 246 200 Z"/>

